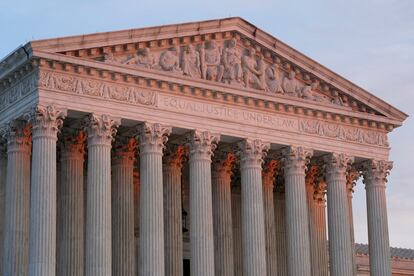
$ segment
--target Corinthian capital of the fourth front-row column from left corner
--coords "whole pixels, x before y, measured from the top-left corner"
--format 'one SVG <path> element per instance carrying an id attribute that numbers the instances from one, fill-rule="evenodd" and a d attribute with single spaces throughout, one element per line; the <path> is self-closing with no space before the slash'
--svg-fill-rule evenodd
<path id="1" fill-rule="evenodd" d="M 195 130 L 189 137 L 190 159 L 204 159 L 211 161 L 211 156 L 220 140 L 219 134 L 210 131 Z"/>

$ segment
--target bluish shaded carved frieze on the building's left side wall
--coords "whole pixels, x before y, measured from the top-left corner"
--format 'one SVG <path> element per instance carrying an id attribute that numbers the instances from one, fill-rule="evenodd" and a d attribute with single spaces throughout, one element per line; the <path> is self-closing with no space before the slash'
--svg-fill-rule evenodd
<path id="1" fill-rule="evenodd" d="M 16 85 L 0 92 L 0 110 L 6 109 L 8 106 L 17 102 L 37 87 L 37 75 L 32 73 Z"/>

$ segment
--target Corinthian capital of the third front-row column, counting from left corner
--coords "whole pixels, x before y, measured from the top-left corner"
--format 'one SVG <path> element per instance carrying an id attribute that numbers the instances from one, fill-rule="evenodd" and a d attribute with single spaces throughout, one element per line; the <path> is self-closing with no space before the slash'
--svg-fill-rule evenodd
<path id="1" fill-rule="evenodd" d="M 143 123 L 138 127 L 138 140 L 140 143 L 140 153 L 160 153 L 162 154 L 168 136 L 171 134 L 171 127 L 158 123 Z"/>

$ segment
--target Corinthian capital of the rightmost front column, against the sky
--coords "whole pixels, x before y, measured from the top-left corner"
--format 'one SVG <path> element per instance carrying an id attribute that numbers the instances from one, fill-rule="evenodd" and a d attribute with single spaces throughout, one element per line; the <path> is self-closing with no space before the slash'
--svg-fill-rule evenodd
<path id="1" fill-rule="evenodd" d="M 393 162 L 385 160 L 367 160 L 362 163 L 362 175 L 367 186 L 382 186 L 387 182 Z"/>

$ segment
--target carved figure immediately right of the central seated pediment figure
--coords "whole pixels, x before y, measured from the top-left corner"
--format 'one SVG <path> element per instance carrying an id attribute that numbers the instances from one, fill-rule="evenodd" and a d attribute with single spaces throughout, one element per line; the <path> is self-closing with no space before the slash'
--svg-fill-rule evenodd
<path id="1" fill-rule="evenodd" d="M 264 90 L 264 60 L 260 55 L 256 60 L 256 51 L 247 49 L 246 55 L 242 57 L 243 81 L 246 87 Z"/>

